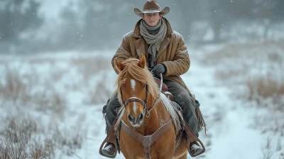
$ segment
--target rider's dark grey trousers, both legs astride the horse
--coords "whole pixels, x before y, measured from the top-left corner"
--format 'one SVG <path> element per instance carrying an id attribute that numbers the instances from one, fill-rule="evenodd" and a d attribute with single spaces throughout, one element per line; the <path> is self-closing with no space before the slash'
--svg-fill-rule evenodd
<path id="1" fill-rule="evenodd" d="M 180 105 L 185 121 L 187 122 L 187 124 L 189 124 L 195 135 L 198 136 L 197 116 L 195 114 L 195 104 L 193 103 L 192 97 L 190 97 L 190 94 L 187 92 L 187 90 L 177 82 L 165 79 L 163 80 L 163 82 L 165 83 L 165 85 L 167 85 L 168 92 L 173 94 L 173 100 Z M 107 133 L 109 133 L 111 125 L 116 117 L 115 110 L 120 106 L 121 105 L 118 101 L 117 94 L 114 94 L 107 104 L 107 112 L 105 118 L 107 124 Z"/>

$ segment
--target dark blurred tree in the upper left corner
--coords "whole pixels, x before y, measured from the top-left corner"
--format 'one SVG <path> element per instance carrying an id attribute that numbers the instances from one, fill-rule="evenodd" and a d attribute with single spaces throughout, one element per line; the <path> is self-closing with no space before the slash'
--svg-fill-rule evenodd
<path id="1" fill-rule="evenodd" d="M 0 8 L 0 42 L 19 42 L 19 35 L 25 31 L 38 28 L 43 19 L 38 17 L 40 4 L 35 0 L 1 0 Z"/>

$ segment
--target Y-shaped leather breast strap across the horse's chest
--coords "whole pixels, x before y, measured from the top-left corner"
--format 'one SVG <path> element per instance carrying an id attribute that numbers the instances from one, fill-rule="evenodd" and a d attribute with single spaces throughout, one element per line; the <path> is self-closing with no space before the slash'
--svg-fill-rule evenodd
<path id="1" fill-rule="evenodd" d="M 151 136 L 143 136 L 141 133 L 138 133 L 137 131 L 133 130 L 129 126 L 127 126 L 123 120 L 121 120 L 121 128 L 132 138 L 136 139 L 136 141 L 142 143 L 144 146 L 144 152 L 146 159 L 151 159 L 150 156 L 150 149 L 153 143 L 160 138 L 160 136 L 163 136 L 164 133 L 166 133 L 170 128 L 173 127 L 173 121 L 170 119 L 168 123 L 164 124 L 160 128 L 158 128 L 155 133 L 153 133 Z"/>

